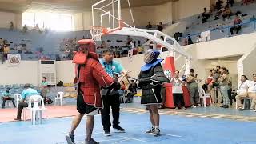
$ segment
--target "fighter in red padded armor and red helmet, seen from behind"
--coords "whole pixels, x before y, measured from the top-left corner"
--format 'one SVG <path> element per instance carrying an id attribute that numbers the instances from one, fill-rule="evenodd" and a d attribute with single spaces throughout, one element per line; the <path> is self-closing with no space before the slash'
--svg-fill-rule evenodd
<path id="1" fill-rule="evenodd" d="M 78 84 L 77 110 L 70 133 L 66 135 L 68 144 L 74 144 L 74 130 L 86 114 L 86 144 L 96 144 L 98 142 L 91 138 L 94 128 L 94 115 L 102 108 L 101 87 L 110 88 L 114 86 L 114 79 L 103 69 L 98 56 L 95 53 L 95 43 L 91 39 L 82 39 L 77 42 L 79 50 L 74 55 L 75 80 Z"/>

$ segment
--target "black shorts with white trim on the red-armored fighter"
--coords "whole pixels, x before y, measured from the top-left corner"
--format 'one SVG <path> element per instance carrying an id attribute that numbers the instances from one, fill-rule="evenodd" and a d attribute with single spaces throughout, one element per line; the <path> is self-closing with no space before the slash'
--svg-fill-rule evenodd
<path id="1" fill-rule="evenodd" d="M 90 114 L 93 112 L 96 112 L 98 108 L 86 104 L 83 100 L 82 92 L 78 92 L 78 98 L 77 98 L 77 110 L 80 114 Z M 98 110 L 99 111 L 99 110 Z M 96 112 L 98 114 L 98 112 Z M 92 114 L 95 115 L 95 114 Z"/>

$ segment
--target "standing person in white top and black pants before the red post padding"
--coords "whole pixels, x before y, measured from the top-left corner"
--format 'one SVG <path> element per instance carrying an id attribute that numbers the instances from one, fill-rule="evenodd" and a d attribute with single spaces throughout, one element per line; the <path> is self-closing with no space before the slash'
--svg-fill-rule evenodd
<path id="1" fill-rule="evenodd" d="M 179 104 L 182 106 L 182 109 L 185 110 L 186 108 L 182 90 L 182 85 L 184 85 L 184 82 L 182 82 L 182 78 L 179 78 L 178 70 L 175 71 L 174 78 L 171 78 L 170 82 L 173 84 L 172 92 L 174 96 L 175 110 L 178 110 Z"/>

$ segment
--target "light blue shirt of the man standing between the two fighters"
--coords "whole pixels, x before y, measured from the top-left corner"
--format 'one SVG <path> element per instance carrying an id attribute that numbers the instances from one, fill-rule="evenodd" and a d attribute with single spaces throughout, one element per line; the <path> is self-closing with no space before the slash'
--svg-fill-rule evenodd
<path id="1" fill-rule="evenodd" d="M 112 61 L 110 63 L 106 63 L 105 59 L 100 59 L 99 62 L 102 64 L 107 74 L 113 78 L 114 73 L 122 73 L 124 68 L 122 67 L 120 62 Z"/>

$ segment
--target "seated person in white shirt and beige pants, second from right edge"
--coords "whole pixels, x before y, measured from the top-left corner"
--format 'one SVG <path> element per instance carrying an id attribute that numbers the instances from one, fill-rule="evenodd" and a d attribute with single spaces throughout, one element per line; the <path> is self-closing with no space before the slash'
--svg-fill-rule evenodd
<path id="1" fill-rule="evenodd" d="M 250 81 L 246 77 L 246 75 L 241 76 L 241 82 L 238 84 L 237 96 L 235 97 L 236 102 L 238 104 L 238 110 L 242 110 L 241 100 L 247 98 L 248 89 L 250 86 Z"/>

